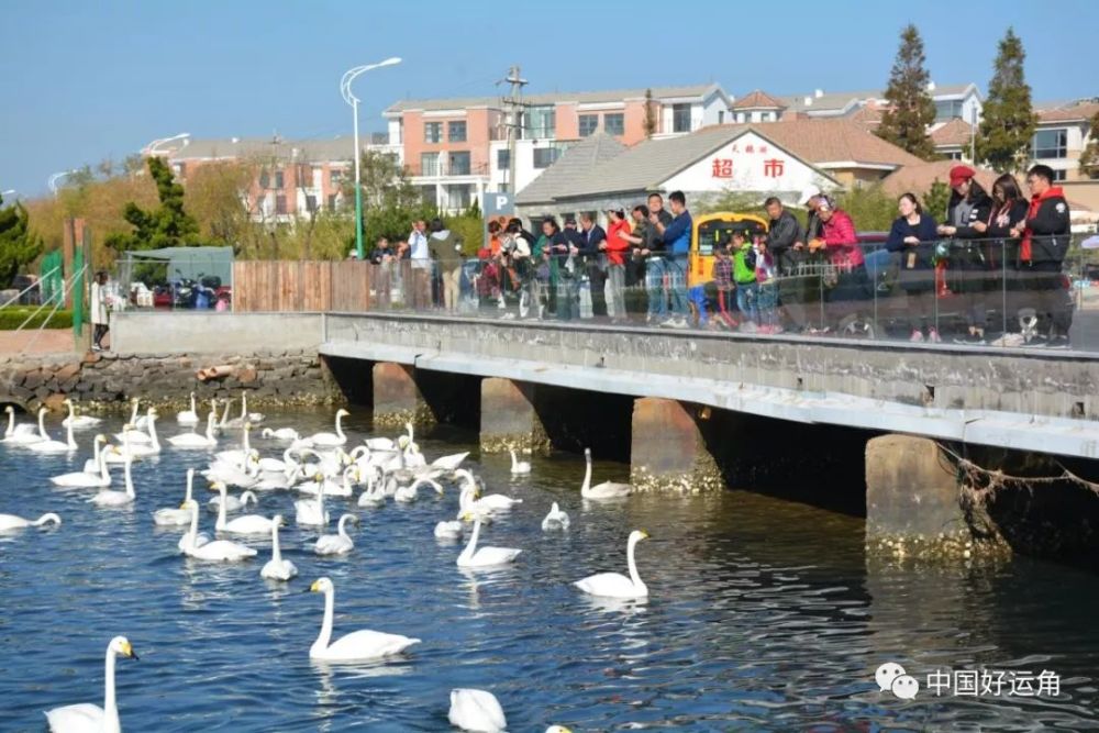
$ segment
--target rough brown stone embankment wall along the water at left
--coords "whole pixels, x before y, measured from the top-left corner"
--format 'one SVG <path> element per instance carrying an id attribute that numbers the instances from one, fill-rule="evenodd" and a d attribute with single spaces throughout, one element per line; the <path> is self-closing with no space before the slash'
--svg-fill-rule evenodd
<path id="1" fill-rule="evenodd" d="M 199 380 L 199 369 L 227 366 L 218 379 Z M 111 411 L 141 398 L 164 408 L 182 407 L 190 392 L 206 400 L 238 399 L 249 407 L 328 404 L 340 399 L 315 351 L 275 349 L 241 355 L 112 354 L 0 356 L 0 403 L 27 411 L 60 409 L 73 398 L 81 409 Z"/>

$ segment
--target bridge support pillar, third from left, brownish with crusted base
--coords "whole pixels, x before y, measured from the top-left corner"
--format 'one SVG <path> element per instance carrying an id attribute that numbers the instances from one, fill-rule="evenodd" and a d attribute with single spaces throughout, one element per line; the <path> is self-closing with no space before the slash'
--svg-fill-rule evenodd
<path id="1" fill-rule="evenodd" d="M 690 493 L 724 487 L 696 421 L 698 412 L 697 406 L 677 400 L 634 400 L 630 442 L 630 482 L 634 487 Z"/>

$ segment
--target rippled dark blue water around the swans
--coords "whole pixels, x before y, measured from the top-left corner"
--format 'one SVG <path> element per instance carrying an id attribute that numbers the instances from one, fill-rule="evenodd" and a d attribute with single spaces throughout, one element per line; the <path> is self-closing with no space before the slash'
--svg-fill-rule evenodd
<path id="1" fill-rule="evenodd" d="M 176 432 L 170 420 L 162 432 Z M 120 421 L 112 421 L 116 429 Z M 313 412 L 267 424 L 323 429 Z M 353 441 L 366 435 L 351 421 Z M 53 429 L 56 432 L 56 425 Z M 445 438 L 445 440 L 444 440 Z M 468 435 L 421 440 L 429 458 L 471 447 Z M 222 447 L 230 443 L 222 438 Z M 90 443 L 90 433 L 81 444 Z M 274 445 L 259 442 L 265 454 Z M 460 546 L 436 541 L 453 519 L 448 490 L 412 506 L 351 507 L 354 552 L 313 556 L 317 532 L 293 525 L 287 492 L 260 495 L 284 513 L 285 556 L 301 575 L 265 581 L 267 540 L 241 564 L 190 560 L 180 531 L 151 513 L 177 507 L 184 471 L 203 452 L 166 448 L 135 468 L 133 510 L 95 509 L 91 490 L 48 477 L 82 465 L 0 445 L 0 512 L 56 511 L 62 526 L 0 536 L 0 730 L 40 731 L 42 711 L 102 704 L 103 655 L 125 634 L 140 662 L 118 663 L 119 707 L 131 731 L 445 731 L 448 691 L 492 691 L 511 731 L 551 723 L 574 731 L 1097 730 L 1099 579 L 1025 559 L 996 568 L 914 568 L 868 563 L 863 522 L 745 491 L 715 497 L 632 497 L 585 507 L 582 463 L 534 460 L 512 481 L 509 459 L 471 456 L 491 491 L 523 499 L 482 532 L 522 547 L 496 573 L 463 573 Z M 626 467 L 597 464 L 596 480 Z M 839 488 L 836 489 L 839 490 Z M 203 503 L 208 497 L 199 486 Z M 543 534 L 558 501 L 573 519 Z M 343 500 L 331 499 L 338 515 Z M 203 510 L 201 524 L 213 526 Z M 644 602 L 599 602 L 570 582 L 624 571 L 625 537 L 651 590 Z M 330 529 L 334 531 L 334 529 Z M 423 643 L 376 665 L 310 663 L 323 598 L 303 593 L 321 576 L 336 588 L 335 636 L 376 629 Z M 935 698 L 880 693 L 875 668 L 906 666 L 923 685 L 942 667 L 1054 670 L 1056 698 Z"/>

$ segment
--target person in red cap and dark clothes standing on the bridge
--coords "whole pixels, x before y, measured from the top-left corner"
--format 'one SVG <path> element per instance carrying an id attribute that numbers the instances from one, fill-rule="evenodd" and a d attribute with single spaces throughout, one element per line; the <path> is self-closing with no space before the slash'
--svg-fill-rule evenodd
<path id="1" fill-rule="evenodd" d="M 992 285 L 990 270 L 997 258 L 989 251 L 988 241 L 974 224 L 987 222 L 992 211 L 992 199 L 988 196 L 977 179 L 976 171 L 969 166 L 951 168 L 951 200 L 946 206 L 946 223 L 939 227 L 943 236 L 968 240 L 964 247 L 952 252 L 952 265 L 956 262 L 962 270 L 958 279 L 958 290 L 965 297 L 966 325 L 969 333 L 963 341 L 969 344 L 985 342 L 985 326 L 988 320 L 988 297 L 986 292 Z"/>

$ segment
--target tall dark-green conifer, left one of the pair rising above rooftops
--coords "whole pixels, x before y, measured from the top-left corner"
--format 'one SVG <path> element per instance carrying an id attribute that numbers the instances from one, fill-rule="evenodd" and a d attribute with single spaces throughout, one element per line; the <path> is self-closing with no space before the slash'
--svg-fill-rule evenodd
<path id="1" fill-rule="evenodd" d="M 881 115 L 876 134 L 912 155 L 932 160 L 936 157 L 935 145 L 928 136 L 928 126 L 935 121 L 935 103 L 928 92 L 931 77 L 924 62 L 923 38 L 910 23 L 900 33 L 900 48 L 886 88 L 889 108 Z"/>

